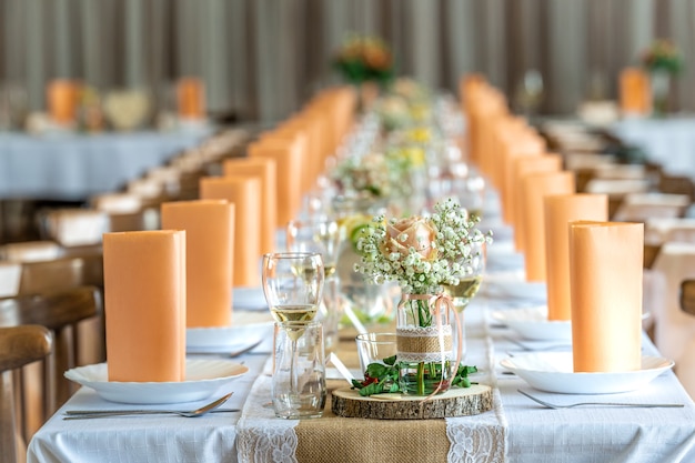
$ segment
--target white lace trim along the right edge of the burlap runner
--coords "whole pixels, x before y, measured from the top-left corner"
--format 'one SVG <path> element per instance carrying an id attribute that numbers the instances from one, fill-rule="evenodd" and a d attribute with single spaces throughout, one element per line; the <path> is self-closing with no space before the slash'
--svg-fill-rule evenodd
<path id="1" fill-rule="evenodd" d="M 446 419 L 446 436 L 451 443 L 449 463 L 504 463 L 506 457 L 506 427 L 507 422 L 502 409 L 502 399 L 494 375 L 494 349 L 488 335 L 486 318 L 483 330 L 485 332 L 485 364 L 481 371 L 486 374 L 481 383 L 493 387 L 493 410 L 475 416 Z"/>

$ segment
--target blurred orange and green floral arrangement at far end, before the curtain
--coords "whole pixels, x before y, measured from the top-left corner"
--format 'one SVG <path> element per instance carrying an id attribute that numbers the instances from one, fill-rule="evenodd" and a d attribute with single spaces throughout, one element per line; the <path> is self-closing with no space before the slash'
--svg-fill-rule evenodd
<path id="1" fill-rule="evenodd" d="M 371 36 L 350 36 L 338 50 L 333 67 L 352 84 L 389 83 L 394 76 L 391 48 L 382 39 Z"/>

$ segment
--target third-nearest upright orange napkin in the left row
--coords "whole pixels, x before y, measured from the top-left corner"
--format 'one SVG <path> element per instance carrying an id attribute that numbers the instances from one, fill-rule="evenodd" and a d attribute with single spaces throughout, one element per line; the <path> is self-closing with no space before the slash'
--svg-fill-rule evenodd
<path id="1" fill-rule="evenodd" d="M 234 204 L 234 286 L 261 284 L 261 180 L 254 177 L 204 177 L 201 199 Z"/>

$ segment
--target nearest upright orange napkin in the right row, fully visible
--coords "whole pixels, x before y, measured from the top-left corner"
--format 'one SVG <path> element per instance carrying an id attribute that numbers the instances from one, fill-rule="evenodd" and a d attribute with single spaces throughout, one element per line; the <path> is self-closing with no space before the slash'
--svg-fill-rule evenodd
<path id="1" fill-rule="evenodd" d="M 571 223 L 575 372 L 639 370 L 643 251 L 642 223 Z"/>

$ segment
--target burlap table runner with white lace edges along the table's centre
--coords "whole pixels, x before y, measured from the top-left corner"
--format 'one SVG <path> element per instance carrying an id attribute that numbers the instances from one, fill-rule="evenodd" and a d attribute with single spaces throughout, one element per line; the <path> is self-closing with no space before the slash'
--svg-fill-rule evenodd
<path id="1" fill-rule="evenodd" d="M 482 333 L 486 330 L 483 328 Z M 482 334 L 481 333 L 481 334 Z M 491 340 L 483 334 L 470 340 L 470 364 L 492 372 Z M 343 339 L 339 358 L 359 370 L 354 339 Z M 266 372 L 270 370 L 266 369 Z M 494 375 L 481 383 L 494 385 Z M 348 386 L 330 380 L 329 390 Z M 331 395 L 324 415 L 312 420 L 275 419 L 270 401 L 270 378 L 262 374 L 244 405 L 238 424 L 240 462 L 481 462 L 498 463 L 505 455 L 506 420 L 500 393 L 494 390 L 494 410 L 476 416 L 445 420 L 365 420 L 335 416 Z"/>

